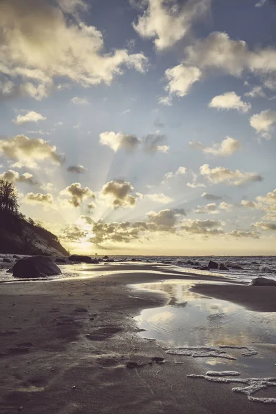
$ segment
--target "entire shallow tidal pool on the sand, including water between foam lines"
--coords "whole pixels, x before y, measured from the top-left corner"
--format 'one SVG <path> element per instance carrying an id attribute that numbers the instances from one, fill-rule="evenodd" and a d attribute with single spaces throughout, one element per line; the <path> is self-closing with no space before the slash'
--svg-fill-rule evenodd
<path id="1" fill-rule="evenodd" d="M 210 282 L 212 283 L 212 282 Z M 216 282 L 217 284 L 217 282 Z M 135 285 L 139 290 L 155 290 L 168 297 L 166 306 L 144 309 L 136 318 L 144 338 L 155 339 L 166 349 L 181 347 L 215 347 L 226 351 L 233 360 L 222 357 L 196 357 L 198 364 L 216 371 L 226 366 L 246 375 L 276 375 L 275 313 L 247 311 L 242 306 L 224 300 L 190 292 L 190 281 L 170 280 Z M 246 357 L 244 350 L 219 346 L 246 346 L 257 355 Z M 169 351 L 168 351 L 169 352 Z M 191 356 L 175 355 L 176 363 L 185 363 Z M 224 355 L 224 354 L 222 354 Z"/>

